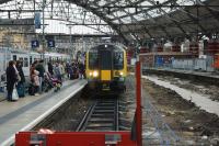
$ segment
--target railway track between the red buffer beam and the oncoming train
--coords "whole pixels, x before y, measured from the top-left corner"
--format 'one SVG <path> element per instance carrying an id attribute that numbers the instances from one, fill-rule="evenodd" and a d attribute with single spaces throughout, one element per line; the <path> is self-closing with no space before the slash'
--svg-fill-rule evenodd
<path id="1" fill-rule="evenodd" d="M 117 98 L 99 99 L 88 110 L 77 131 L 118 131 Z"/>

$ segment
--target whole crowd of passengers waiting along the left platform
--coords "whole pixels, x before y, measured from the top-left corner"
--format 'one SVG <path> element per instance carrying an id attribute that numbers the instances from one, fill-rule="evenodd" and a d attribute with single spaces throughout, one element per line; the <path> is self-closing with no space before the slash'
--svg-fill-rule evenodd
<path id="1" fill-rule="evenodd" d="M 26 81 L 22 69 L 22 61 L 10 60 L 7 68 L 7 100 L 16 101 L 28 94 L 39 96 L 55 88 L 58 91 L 65 79 L 85 78 L 85 66 L 82 61 L 49 61 L 45 68 L 44 60 L 35 60 L 30 67 L 30 81 Z M 27 85 L 27 87 L 26 87 Z"/>

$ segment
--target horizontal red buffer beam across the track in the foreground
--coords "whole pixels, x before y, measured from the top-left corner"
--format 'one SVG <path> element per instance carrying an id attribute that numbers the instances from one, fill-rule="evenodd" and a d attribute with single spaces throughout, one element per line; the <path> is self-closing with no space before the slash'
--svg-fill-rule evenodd
<path id="1" fill-rule="evenodd" d="M 20 132 L 15 146 L 138 146 L 130 132 Z"/>

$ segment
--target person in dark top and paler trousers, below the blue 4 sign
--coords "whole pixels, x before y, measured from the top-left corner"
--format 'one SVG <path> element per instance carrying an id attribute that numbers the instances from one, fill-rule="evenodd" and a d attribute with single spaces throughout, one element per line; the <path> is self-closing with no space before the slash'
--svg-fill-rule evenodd
<path id="1" fill-rule="evenodd" d="M 39 93 L 43 92 L 43 81 L 44 81 L 44 74 L 45 74 L 45 68 L 44 68 L 44 60 L 39 60 L 38 64 L 36 64 L 35 69 L 39 72 L 38 74 L 38 79 L 39 79 Z"/>

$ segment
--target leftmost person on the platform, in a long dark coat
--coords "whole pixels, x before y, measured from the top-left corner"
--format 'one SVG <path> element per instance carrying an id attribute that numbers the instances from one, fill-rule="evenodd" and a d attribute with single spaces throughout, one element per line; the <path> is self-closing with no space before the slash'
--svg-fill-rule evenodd
<path id="1" fill-rule="evenodd" d="M 8 101 L 12 101 L 12 92 L 14 85 L 18 81 L 18 75 L 15 69 L 15 61 L 10 60 L 7 68 L 7 90 L 8 90 Z"/>

